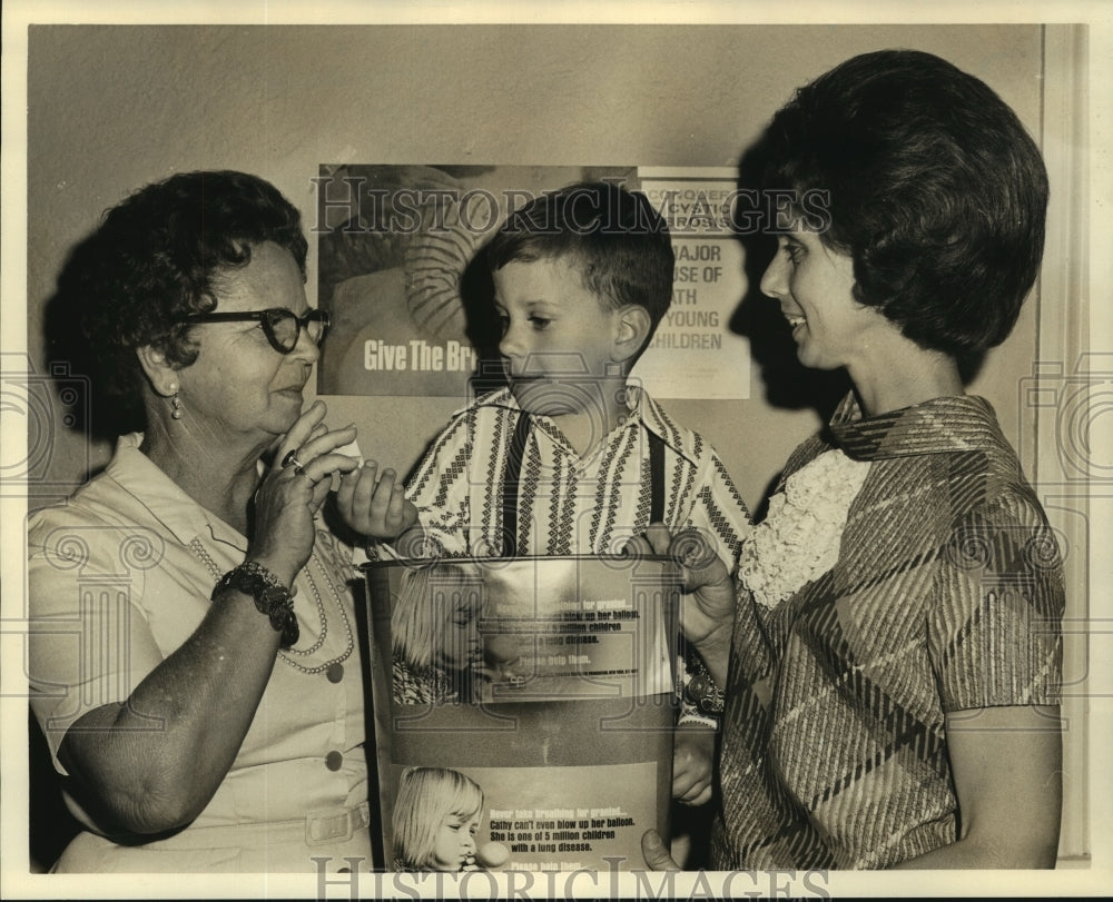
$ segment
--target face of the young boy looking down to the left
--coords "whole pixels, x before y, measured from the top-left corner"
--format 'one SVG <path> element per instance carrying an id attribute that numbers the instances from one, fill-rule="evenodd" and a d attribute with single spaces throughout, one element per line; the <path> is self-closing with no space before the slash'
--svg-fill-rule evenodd
<path id="1" fill-rule="evenodd" d="M 494 303 L 499 350 L 523 409 L 561 416 L 601 403 L 602 377 L 620 373 L 619 314 L 583 287 L 574 264 L 513 260 L 494 274 Z"/>

